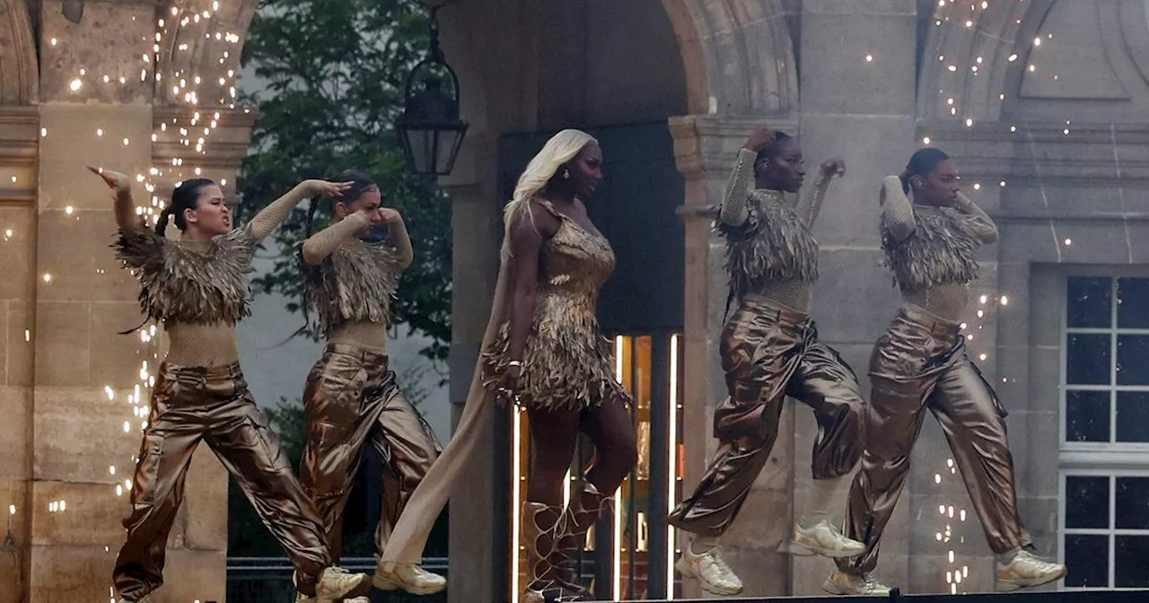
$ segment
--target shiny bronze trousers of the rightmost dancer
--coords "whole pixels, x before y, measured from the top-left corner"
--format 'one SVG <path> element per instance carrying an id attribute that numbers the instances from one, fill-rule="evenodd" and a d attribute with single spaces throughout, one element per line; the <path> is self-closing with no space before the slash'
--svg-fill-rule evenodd
<path id="1" fill-rule="evenodd" d="M 910 472 L 910 454 L 926 410 L 949 441 L 989 548 L 1002 554 L 1030 544 L 1017 515 L 1013 457 L 1005 440 L 1005 409 L 965 355 L 956 323 L 903 306 L 870 356 L 873 392 L 866 449 L 850 486 L 846 535 L 866 552 L 838 562 L 865 574 L 878 564 L 878 544 Z"/>

